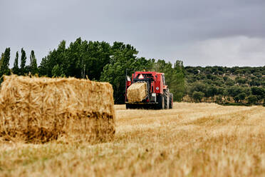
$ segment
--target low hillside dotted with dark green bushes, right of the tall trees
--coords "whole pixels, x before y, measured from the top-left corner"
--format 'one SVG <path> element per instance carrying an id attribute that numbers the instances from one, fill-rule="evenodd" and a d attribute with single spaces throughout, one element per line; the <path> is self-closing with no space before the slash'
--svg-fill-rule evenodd
<path id="1" fill-rule="evenodd" d="M 186 66 L 184 101 L 263 103 L 265 66 Z"/>

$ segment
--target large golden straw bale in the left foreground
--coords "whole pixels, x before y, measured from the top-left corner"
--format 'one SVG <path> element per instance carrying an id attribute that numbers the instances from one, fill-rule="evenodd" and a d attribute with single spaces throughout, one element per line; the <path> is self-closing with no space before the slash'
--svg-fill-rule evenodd
<path id="1" fill-rule="evenodd" d="M 0 136 L 6 140 L 108 141 L 114 121 L 108 83 L 12 75 L 1 84 Z"/>

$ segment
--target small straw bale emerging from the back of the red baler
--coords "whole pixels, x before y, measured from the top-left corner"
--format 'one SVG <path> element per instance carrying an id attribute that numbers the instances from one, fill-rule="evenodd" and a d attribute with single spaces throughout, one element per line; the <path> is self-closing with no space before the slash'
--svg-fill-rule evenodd
<path id="1" fill-rule="evenodd" d="M 129 103 L 140 102 L 147 96 L 146 82 L 136 82 L 127 89 Z"/>

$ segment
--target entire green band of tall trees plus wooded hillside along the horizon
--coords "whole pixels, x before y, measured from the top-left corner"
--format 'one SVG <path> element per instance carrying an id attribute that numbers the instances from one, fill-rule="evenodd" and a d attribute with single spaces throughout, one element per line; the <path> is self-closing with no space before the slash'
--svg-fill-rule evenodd
<path id="1" fill-rule="evenodd" d="M 105 41 L 83 41 L 78 38 L 66 47 L 61 41 L 37 65 L 34 51 L 26 65 L 26 51 L 16 52 L 14 66 L 9 67 L 11 49 L 6 48 L 0 59 L 0 76 L 11 73 L 48 77 L 76 77 L 93 81 L 107 81 L 113 86 L 115 103 L 124 103 L 125 72 L 158 71 L 165 73 L 167 85 L 175 101 L 218 103 L 264 103 L 265 66 L 222 67 L 183 66 L 165 60 L 137 57 L 138 51 L 130 44 Z M 265 104 L 265 103 L 264 103 Z"/>

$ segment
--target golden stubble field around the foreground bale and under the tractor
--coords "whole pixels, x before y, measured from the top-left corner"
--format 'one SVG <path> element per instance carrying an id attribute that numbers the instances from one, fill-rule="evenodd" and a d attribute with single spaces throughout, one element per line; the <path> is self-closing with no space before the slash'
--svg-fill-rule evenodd
<path id="1" fill-rule="evenodd" d="M 265 108 L 117 105 L 109 143 L 0 142 L 0 176 L 265 176 Z"/>

